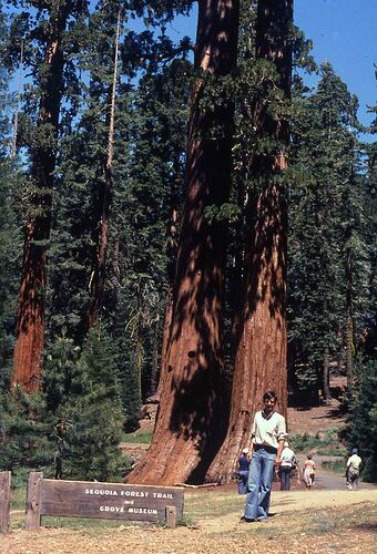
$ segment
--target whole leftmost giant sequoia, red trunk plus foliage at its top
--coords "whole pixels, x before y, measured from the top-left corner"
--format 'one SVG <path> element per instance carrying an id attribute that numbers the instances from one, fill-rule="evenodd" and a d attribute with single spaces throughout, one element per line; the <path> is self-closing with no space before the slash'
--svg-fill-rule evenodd
<path id="1" fill-rule="evenodd" d="M 32 9 L 37 9 L 35 27 L 31 27 L 22 39 L 27 42 L 27 63 L 33 68 L 38 88 L 34 94 L 39 99 L 39 105 L 38 115 L 35 119 L 31 116 L 31 125 L 23 136 L 30 153 L 30 182 L 27 192 L 29 213 L 24 234 L 12 384 L 21 384 L 26 390 L 33 391 L 40 387 L 44 341 L 45 261 L 51 230 L 59 114 L 63 94 L 63 38 L 69 17 L 77 16 L 84 3 L 55 0 L 43 3 L 42 7 L 39 2 L 30 1 L 29 4 L 30 12 L 21 13 L 18 23 L 21 29 L 26 28 L 24 21 L 29 21 L 31 25 Z M 33 41 L 40 50 L 33 50 Z M 35 129 L 32 127 L 33 119 Z"/>

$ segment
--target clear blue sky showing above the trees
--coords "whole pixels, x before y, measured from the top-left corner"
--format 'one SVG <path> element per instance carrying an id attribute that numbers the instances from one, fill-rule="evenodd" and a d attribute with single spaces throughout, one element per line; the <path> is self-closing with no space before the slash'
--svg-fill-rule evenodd
<path id="1" fill-rule="evenodd" d="M 377 63 L 377 0 L 294 0 L 295 24 L 313 40 L 319 64 L 332 63 L 335 72 L 359 99 L 359 119 L 368 124 L 367 105 L 376 105 L 374 62 Z M 173 23 L 171 34 L 196 32 L 196 10 Z M 313 80 L 310 79 L 310 84 Z"/>

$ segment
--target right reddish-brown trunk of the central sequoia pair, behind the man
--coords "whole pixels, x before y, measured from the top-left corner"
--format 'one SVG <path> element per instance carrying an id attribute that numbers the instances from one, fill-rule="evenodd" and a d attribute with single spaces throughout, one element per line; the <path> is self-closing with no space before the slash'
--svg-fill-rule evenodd
<path id="1" fill-rule="evenodd" d="M 257 7 L 256 58 L 274 63 L 274 83 L 286 98 L 291 90 L 292 53 L 288 29 L 292 0 L 259 0 Z M 211 464 L 208 481 L 231 481 L 242 447 L 249 443 L 254 413 L 266 390 L 278 394 L 278 411 L 286 414 L 286 206 L 283 179 L 286 168 L 284 144 L 288 123 L 272 119 L 263 99 L 254 105 L 253 123 L 261 137 L 281 143 L 273 154 L 254 154 L 253 171 L 262 185 L 256 223 L 249 227 L 245 254 L 243 308 L 235 322 L 235 367 L 227 435 Z M 255 209 L 254 209 L 255 212 Z M 251 225 L 251 219 L 249 219 Z"/>

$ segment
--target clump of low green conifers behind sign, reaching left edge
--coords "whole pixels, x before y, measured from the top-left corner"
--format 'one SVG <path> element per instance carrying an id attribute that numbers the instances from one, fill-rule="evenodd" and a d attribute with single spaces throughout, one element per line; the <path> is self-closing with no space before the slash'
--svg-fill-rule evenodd
<path id="1" fill-rule="evenodd" d="M 45 392 L 2 394 L 0 456 L 17 482 L 45 476 L 119 480 L 130 460 L 119 449 L 122 404 L 112 345 L 94 329 L 82 350 L 61 338 L 51 347 Z"/>

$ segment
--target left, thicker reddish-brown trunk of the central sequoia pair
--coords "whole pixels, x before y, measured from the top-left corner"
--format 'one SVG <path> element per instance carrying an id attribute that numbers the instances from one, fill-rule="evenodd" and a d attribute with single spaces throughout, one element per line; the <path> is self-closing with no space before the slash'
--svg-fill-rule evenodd
<path id="1" fill-rule="evenodd" d="M 134 483 L 201 479 L 218 448 L 222 408 L 222 318 L 226 234 L 205 218 L 231 182 L 233 105 L 201 105 L 207 76 L 236 62 L 237 2 L 198 2 L 196 79 L 188 126 L 186 198 L 180 236 L 171 332 L 156 425 L 149 452 L 129 475 Z M 215 136 L 213 135 L 215 133 Z M 211 439 L 211 440 L 210 440 Z"/>

